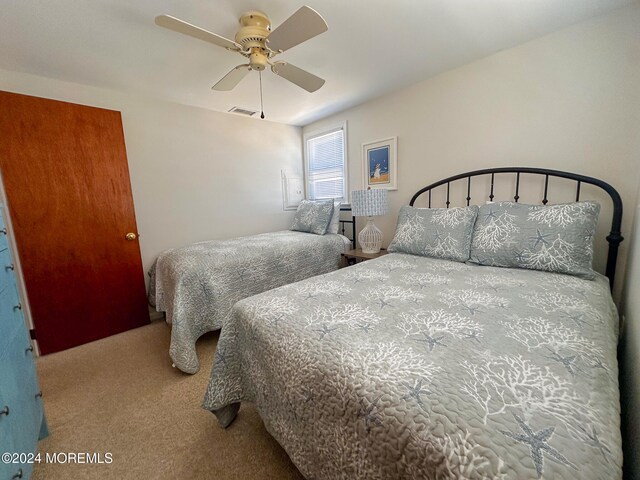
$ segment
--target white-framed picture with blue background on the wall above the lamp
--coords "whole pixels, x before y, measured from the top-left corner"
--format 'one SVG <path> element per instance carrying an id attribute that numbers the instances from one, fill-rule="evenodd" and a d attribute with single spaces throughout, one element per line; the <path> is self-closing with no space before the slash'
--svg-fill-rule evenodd
<path id="1" fill-rule="evenodd" d="M 364 188 L 398 189 L 398 137 L 362 145 Z"/>

